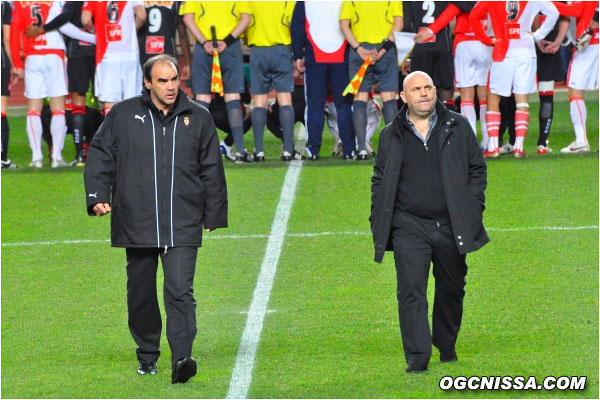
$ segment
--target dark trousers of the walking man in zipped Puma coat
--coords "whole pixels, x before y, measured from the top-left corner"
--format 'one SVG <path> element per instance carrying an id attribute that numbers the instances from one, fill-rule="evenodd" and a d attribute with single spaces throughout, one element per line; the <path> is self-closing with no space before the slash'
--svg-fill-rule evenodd
<path id="1" fill-rule="evenodd" d="M 191 356 L 197 331 L 193 284 L 198 249 L 174 247 L 165 252 L 158 248 L 128 248 L 126 253 L 129 331 L 138 345 L 138 360 L 150 363 L 160 356 L 162 320 L 156 293 L 159 255 L 164 273 L 163 295 L 171 362 Z"/>

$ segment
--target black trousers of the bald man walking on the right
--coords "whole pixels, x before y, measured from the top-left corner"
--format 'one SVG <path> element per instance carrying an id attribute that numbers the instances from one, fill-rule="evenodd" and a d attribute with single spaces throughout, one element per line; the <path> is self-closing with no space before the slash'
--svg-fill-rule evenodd
<path id="1" fill-rule="evenodd" d="M 398 279 L 398 316 L 407 363 L 428 364 L 431 345 L 454 350 L 462 320 L 466 256 L 460 255 L 449 223 L 394 212 L 392 242 Z M 429 329 L 427 280 L 433 263 L 433 333 Z"/>

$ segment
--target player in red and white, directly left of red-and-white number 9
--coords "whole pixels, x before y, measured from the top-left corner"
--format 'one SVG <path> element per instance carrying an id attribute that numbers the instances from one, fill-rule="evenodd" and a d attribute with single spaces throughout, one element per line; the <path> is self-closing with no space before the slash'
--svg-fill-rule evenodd
<path id="1" fill-rule="evenodd" d="M 460 92 L 460 112 L 469 120 L 473 132 L 477 135 L 477 115 L 475 114 L 475 90 L 477 90 L 479 120 L 481 121 L 481 146 L 487 148 L 486 87 L 490 66 L 492 65 L 492 48 L 477 40 L 471 29 L 469 12 L 474 5 L 474 1 L 450 2 L 448 7 L 427 29 L 420 30 L 417 33 L 415 42 L 421 43 L 428 40 L 456 17 L 454 27 L 454 75 L 456 87 Z M 488 18 L 482 19 L 480 23 L 487 29 L 489 25 Z M 487 33 L 492 34 L 491 29 Z"/>

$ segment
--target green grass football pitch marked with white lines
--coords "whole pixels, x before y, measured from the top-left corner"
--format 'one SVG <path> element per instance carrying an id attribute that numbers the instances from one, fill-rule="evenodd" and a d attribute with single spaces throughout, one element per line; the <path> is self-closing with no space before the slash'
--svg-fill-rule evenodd
<path id="1" fill-rule="evenodd" d="M 589 154 L 559 153 L 573 140 L 559 101 L 554 152 L 538 156 L 532 103 L 529 157 L 488 163 L 491 242 L 467 258 L 459 362 L 442 365 L 434 350 L 418 376 L 404 373 L 393 257 L 372 261 L 372 161 L 330 157 L 326 131 L 318 162 L 276 160 L 269 133 L 267 162 L 225 162 L 230 227 L 206 235 L 197 265 L 199 373 L 176 386 L 164 333 L 158 376 L 135 373 L 124 251 L 109 246 L 107 218 L 86 215 L 82 169 L 25 167 L 24 118 L 9 114 L 9 156 L 21 168 L 1 175 L 1 396 L 598 398 L 598 94 L 586 100 Z M 251 148 L 251 132 L 246 141 Z M 244 352 L 252 357 L 236 368 Z M 587 383 L 583 391 L 443 391 L 446 375 Z"/>

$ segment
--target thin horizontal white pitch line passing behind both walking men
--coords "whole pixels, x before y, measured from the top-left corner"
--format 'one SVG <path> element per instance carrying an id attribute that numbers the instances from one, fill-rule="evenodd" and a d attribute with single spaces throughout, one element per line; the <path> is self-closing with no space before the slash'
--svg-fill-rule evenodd
<path id="1" fill-rule="evenodd" d="M 526 231 L 582 231 L 598 229 L 598 225 L 584 226 L 525 226 L 515 228 L 486 228 L 488 232 L 526 232 Z M 317 236 L 364 236 L 370 235 L 370 231 L 338 231 L 338 232 L 306 232 L 306 233 L 287 233 L 288 237 L 317 237 Z M 204 240 L 225 240 L 225 239 L 265 239 L 269 235 L 214 235 L 205 236 Z M 46 242 L 7 242 L 2 243 L 2 247 L 15 246 L 52 246 L 56 244 L 79 244 L 79 243 L 110 243 L 109 239 L 82 239 L 82 240 L 54 240 Z"/>

